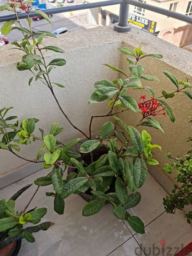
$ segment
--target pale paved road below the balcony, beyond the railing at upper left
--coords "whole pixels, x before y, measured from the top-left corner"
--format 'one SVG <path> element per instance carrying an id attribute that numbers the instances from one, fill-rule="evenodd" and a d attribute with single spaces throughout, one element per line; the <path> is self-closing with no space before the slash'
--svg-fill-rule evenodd
<path id="1" fill-rule="evenodd" d="M 75 0 L 74 3 L 66 3 L 66 5 L 72 4 L 80 4 L 83 0 Z M 48 3 L 48 8 L 52 8 L 51 3 Z M 1 15 L 11 14 L 11 12 L 1 12 Z M 78 29 L 84 28 L 87 25 L 87 10 L 75 11 L 75 12 L 65 12 L 59 14 L 53 14 L 50 18 L 52 24 L 49 24 L 46 20 L 33 21 L 32 20 L 32 28 L 33 31 L 46 30 L 49 32 L 53 32 L 53 30 L 60 27 L 67 27 L 69 31 L 74 31 Z M 21 20 L 22 26 L 27 27 L 26 20 Z M 0 24 L 0 28 L 3 24 Z M 12 30 L 10 34 L 7 35 L 9 42 L 14 40 L 21 41 L 23 35 L 18 30 Z"/>

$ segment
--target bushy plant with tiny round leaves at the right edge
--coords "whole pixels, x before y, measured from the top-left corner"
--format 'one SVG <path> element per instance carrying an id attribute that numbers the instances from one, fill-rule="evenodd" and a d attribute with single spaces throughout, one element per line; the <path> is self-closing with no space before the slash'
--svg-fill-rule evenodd
<path id="1" fill-rule="evenodd" d="M 190 122 L 192 122 L 192 117 Z M 192 141 L 192 137 L 188 142 Z M 177 184 L 174 185 L 172 194 L 163 198 L 163 204 L 167 213 L 175 214 L 176 210 L 182 210 L 188 223 L 192 222 L 192 210 L 189 211 L 186 207 L 192 206 L 192 150 L 189 150 L 183 157 L 173 157 L 171 154 L 166 154 L 173 161 L 164 165 L 164 171 L 171 174 L 177 171 Z"/>

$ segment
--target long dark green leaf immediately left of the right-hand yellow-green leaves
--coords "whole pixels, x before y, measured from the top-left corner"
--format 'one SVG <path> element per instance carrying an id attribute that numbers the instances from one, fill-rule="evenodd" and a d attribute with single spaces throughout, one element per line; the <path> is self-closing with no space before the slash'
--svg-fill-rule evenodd
<path id="1" fill-rule="evenodd" d="M 142 153 L 144 151 L 144 145 L 142 142 L 141 134 L 137 129 L 135 129 L 131 125 L 128 127 L 128 131 L 129 131 L 132 145 L 138 150 L 139 153 Z"/>

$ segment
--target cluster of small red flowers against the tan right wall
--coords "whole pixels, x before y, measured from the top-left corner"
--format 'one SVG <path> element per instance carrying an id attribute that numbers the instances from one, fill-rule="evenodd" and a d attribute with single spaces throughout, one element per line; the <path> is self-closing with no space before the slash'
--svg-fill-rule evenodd
<path id="1" fill-rule="evenodd" d="M 145 101 L 146 96 L 143 95 L 140 99 L 143 99 L 143 102 L 138 103 L 138 107 L 142 110 L 143 117 L 164 115 L 166 116 L 165 109 L 162 107 L 163 104 L 157 102 L 157 99 L 151 98 L 150 100 Z M 161 107 L 161 109 L 159 109 Z"/>

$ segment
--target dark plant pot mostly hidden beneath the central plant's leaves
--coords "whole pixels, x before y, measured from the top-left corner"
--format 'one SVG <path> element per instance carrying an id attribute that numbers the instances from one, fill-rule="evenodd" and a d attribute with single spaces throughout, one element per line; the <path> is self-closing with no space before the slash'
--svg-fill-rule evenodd
<path id="1" fill-rule="evenodd" d="M 104 154 L 108 154 L 108 149 L 105 146 L 101 146 L 99 149 L 95 149 L 93 151 L 93 160 L 96 161 L 98 158 L 100 158 L 102 155 Z M 84 160 L 84 162 L 86 162 L 87 164 L 91 163 L 91 159 L 90 159 L 90 153 L 87 154 L 82 154 L 81 155 L 81 159 L 78 160 Z M 68 168 L 68 173 L 70 172 L 78 172 L 77 169 L 74 168 Z M 109 188 L 109 190 L 107 191 L 107 193 L 113 193 L 115 192 L 115 177 L 113 178 L 112 182 L 111 182 L 111 186 Z M 127 182 L 124 182 L 124 185 L 127 186 Z M 91 193 L 89 193 L 89 191 L 86 191 L 85 193 L 79 194 L 86 202 L 90 202 L 92 199 L 92 195 Z M 105 204 L 108 204 L 109 202 L 106 201 Z"/>

